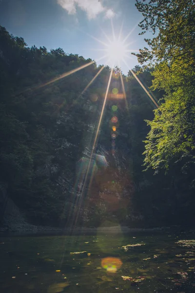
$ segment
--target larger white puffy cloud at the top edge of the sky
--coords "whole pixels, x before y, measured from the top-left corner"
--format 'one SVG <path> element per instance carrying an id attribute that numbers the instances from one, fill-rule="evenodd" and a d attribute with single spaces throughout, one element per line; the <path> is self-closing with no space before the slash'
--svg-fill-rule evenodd
<path id="1" fill-rule="evenodd" d="M 88 19 L 94 19 L 99 13 L 104 12 L 107 18 L 112 18 L 115 13 L 102 5 L 101 0 L 57 0 L 58 4 L 69 14 L 76 14 L 77 7 L 86 12 Z"/>

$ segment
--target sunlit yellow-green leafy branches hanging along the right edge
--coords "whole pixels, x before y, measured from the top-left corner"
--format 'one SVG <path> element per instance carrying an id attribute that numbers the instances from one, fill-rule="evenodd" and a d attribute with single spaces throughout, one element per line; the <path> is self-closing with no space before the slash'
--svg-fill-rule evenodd
<path id="1" fill-rule="evenodd" d="M 150 0 L 136 5 L 144 16 L 143 33 L 151 28 L 157 34 L 146 40 L 151 50 L 140 50 L 138 60 L 155 65 L 152 88 L 166 92 L 154 120 L 147 121 L 151 131 L 145 141 L 145 165 L 167 170 L 179 161 L 182 168 L 187 157 L 195 159 L 195 3 Z"/>

